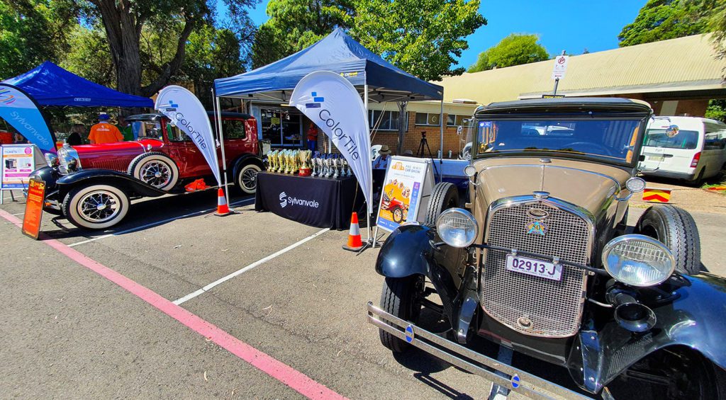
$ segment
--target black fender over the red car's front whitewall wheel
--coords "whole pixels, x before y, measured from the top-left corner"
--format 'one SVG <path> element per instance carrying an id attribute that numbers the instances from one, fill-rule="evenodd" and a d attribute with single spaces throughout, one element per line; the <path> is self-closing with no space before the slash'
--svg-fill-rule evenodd
<path id="1" fill-rule="evenodd" d="M 58 199 L 61 201 L 73 188 L 95 183 L 116 186 L 125 191 L 129 196 L 158 197 L 168 194 L 168 192 L 144 183 L 131 175 L 113 170 L 80 170 L 63 176 L 56 183 L 58 186 Z"/>

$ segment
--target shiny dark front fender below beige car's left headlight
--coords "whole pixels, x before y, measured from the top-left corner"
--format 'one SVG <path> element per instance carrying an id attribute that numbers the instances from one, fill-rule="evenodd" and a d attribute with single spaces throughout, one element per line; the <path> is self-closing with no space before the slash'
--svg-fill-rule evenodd
<path id="1" fill-rule="evenodd" d="M 401 225 L 381 246 L 375 272 L 386 278 L 424 275 L 436 288 L 449 321 L 457 321 L 461 300 L 457 294 L 466 267 L 465 255 L 465 249 L 441 243 L 432 228 Z"/>

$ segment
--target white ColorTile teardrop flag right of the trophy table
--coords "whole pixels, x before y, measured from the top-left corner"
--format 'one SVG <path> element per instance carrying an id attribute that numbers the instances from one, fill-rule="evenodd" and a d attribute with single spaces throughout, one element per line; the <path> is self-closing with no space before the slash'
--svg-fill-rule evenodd
<path id="1" fill-rule="evenodd" d="M 356 175 L 371 214 L 373 171 L 368 113 L 356 88 L 335 72 L 311 72 L 295 86 L 290 106 L 297 107 L 333 139 Z"/>

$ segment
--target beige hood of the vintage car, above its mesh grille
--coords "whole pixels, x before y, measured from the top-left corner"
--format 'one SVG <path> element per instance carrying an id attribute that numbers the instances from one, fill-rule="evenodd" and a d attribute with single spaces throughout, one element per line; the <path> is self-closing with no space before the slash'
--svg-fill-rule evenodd
<path id="1" fill-rule="evenodd" d="M 476 161 L 476 208 L 486 215 L 489 204 L 513 196 L 532 195 L 534 191 L 550 193 L 559 199 L 587 209 L 596 217 L 624 188 L 630 173 L 618 167 L 592 162 L 538 158 L 490 158 Z"/>

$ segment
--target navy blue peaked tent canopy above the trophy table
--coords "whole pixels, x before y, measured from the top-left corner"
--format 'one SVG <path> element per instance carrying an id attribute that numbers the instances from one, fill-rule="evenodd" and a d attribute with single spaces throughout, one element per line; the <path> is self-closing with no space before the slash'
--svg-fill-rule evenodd
<path id="1" fill-rule="evenodd" d="M 287 101 L 305 75 L 332 71 L 362 89 L 375 102 L 440 100 L 443 88 L 393 67 L 340 28 L 322 40 L 279 61 L 229 78 L 214 80 L 216 96 Z"/>

